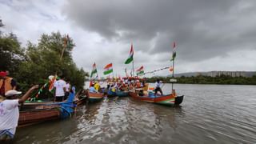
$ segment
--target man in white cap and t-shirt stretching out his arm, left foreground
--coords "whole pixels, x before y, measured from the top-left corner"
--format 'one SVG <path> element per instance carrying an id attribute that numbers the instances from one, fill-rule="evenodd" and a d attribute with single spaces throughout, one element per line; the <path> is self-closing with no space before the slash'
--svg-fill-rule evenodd
<path id="1" fill-rule="evenodd" d="M 17 90 L 8 90 L 5 97 L 0 95 L 0 142 L 14 138 L 18 126 L 18 104 L 25 102 L 35 89 L 38 89 L 38 85 L 32 86 L 20 99 L 17 96 L 22 92 Z"/>

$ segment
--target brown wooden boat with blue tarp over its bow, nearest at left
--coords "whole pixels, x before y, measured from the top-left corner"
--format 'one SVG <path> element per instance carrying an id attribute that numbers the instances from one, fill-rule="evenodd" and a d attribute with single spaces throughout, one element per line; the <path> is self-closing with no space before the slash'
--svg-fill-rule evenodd
<path id="1" fill-rule="evenodd" d="M 18 126 L 30 126 L 52 119 L 68 118 L 74 112 L 74 93 L 70 93 L 66 102 L 25 103 L 20 108 Z"/>

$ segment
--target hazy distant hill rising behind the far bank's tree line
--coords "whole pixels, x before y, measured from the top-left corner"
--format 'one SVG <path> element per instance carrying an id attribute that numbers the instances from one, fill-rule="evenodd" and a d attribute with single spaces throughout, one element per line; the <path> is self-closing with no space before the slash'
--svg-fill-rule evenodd
<path id="1" fill-rule="evenodd" d="M 231 75 L 234 73 L 239 73 L 240 75 L 244 77 L 252 77 L 253 75 L 256 75 L 256 71 L 208 71 L 208 72 L 189 72 L 189 73 L 181 73 L 181 74 L 174 74 L 174 77 L 192 77 L 192 76 L 198 76 L 198 75 L 204 75 L 204 76 L 213 76 L 213 74 L 221 73 L 226 75 Z M 168 75 L 167 77 L 171 77 L 171 75 Z"/>

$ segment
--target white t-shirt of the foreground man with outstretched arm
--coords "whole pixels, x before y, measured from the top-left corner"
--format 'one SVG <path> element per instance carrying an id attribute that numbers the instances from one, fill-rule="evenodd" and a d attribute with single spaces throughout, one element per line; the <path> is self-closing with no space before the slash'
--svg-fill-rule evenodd
<path id="1" fill-rule="evenodd" d="M 0 130 L 14 129 L 18 126 L 18 99 L 0 102 Z"/>

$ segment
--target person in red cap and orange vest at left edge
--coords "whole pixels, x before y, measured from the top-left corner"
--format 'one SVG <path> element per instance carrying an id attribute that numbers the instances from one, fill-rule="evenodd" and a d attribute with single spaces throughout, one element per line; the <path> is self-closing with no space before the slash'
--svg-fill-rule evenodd
<path id="1" fill-rule="evenodd" d="M 9 72 L 8 72 L 9 73 Z M 5 96 L 6 91 L 15 90 L 16 82 L 13 78 L 7 77 L 5 71 L 0 72 L 0 95 Z"/>

